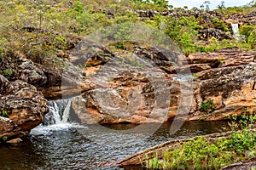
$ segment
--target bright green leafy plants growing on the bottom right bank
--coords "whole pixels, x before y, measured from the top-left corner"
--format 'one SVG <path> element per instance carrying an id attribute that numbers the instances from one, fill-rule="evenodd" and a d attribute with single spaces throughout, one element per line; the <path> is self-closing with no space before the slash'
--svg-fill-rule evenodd
<path id="1" fill-rule="evenodd" d="M 232 133 L 228 138 L 189 139 L 177 149 L 166 150 L 163 158 L 156 156 L 145 163 L 150 169 L 219 169 L 256 156 L 256 115 L 243 115 L 231 123 Z M 146 156 L 147 157 L 147 156 Z"/>

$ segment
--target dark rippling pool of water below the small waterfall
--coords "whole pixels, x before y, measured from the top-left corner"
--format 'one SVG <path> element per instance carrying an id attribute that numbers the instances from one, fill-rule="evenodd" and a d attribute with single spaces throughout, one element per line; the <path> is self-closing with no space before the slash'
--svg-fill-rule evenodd
<path id="1" fill-rule="evenodd" d="M 148 128 L 154 125 L 148 124 Z M 170 126 L 171 122 L 165 123 L 153 134 L 119 133 L 136 127 L 132 124 L 105 126 L 118 130 L 117 133 L 67 123 L 37 127 L 23 144 L 0 147 L 0 169 L 123 169 L 99 166 L 170 139 L 223 132 L 222 127 L 227 127 L 227 123 L 186 122 L 174 135 L 169 133 Z"/>

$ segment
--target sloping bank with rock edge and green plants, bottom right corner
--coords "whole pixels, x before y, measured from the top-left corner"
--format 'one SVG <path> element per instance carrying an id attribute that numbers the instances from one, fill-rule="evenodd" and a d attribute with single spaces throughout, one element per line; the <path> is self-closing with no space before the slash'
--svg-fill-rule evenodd
<path id="1" fill-rule="evenodd" d="M 248 126 L 240 131 L 171 140 L 128 156 L 116 165 L 148 169 L 252 169 L 256 164 L 255 132 Z"/>

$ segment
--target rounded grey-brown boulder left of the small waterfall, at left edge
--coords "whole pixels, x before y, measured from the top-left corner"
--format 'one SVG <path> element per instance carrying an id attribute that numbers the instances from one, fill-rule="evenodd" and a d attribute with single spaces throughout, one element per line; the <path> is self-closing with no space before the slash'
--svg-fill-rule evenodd
<path id="1" fill-rule="evenodd" d="M 0 94 L 0 139 L 22 138 L 44 120 L 49 111 L 48 101 L 37 88 L 17 80 L 8 82 L 0 75 L 0 84 L 6 89 Z M 8 117 L 3 117 L 3 112 Z"/>

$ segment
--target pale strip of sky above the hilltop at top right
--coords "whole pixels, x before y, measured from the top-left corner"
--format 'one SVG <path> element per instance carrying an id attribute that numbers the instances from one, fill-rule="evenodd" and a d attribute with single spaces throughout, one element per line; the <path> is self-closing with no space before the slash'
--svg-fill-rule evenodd
<path id="1" fill-rule="evenodd" d="M 206 0 L 169 0 L 169 4 L 173 5 L 174 7 L 184 7 L 188 6 L 189 8 L 197 7 L 200 8 L 201 4 L 204 3 Z M 210 0 L 210 8 L 214 9 L 220 4 L 222 0 Z M 233 7 L 233 6 L 242 6 L 246 5 L 247 3 L 252 2 L 252 0 L 225 0 L 224 1 L 225 7 Z"/>

